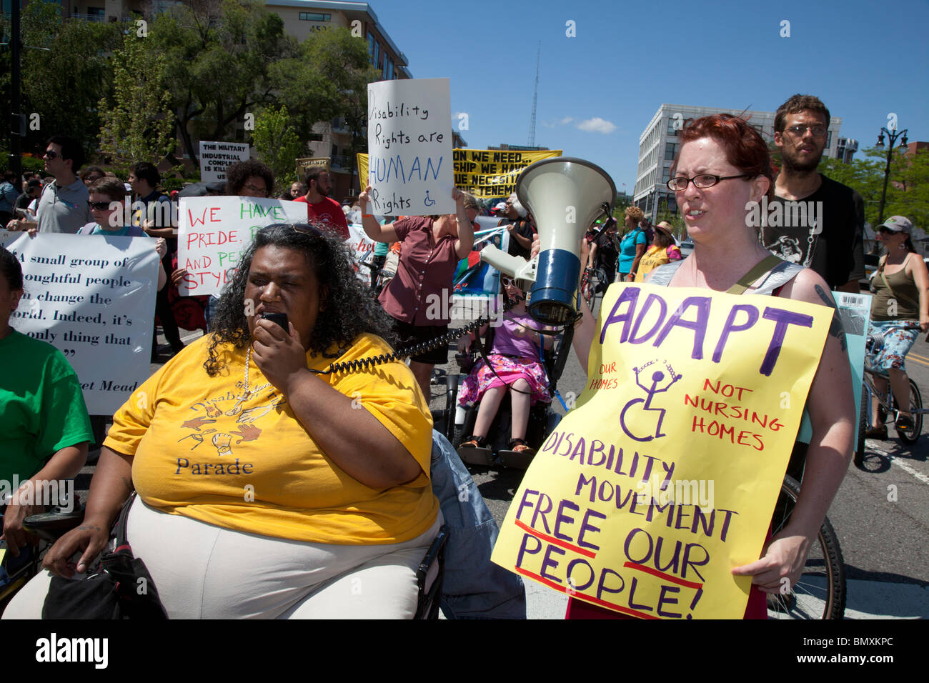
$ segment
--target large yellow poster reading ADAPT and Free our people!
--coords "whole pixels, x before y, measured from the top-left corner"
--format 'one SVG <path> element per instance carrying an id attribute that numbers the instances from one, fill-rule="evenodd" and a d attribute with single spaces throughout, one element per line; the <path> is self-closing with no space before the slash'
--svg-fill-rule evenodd
<path id="1" fill-rule="evenodd" d="M 738 619 L 832 309 L 614 284 L 577 407 L 536 454 L 492 560 L 640 618 Z"/>

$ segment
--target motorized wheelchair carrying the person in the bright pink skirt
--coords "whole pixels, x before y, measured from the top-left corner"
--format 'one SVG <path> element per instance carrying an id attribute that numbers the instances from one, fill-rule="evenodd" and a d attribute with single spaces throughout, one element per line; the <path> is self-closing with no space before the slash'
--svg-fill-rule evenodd
<path id="1" fill-rule="evenodd" d="M 483 341 L 478 343 L 483 349 L 483 355 L 486 357 L 493 348 L 494 329 L 488 329 Z M 574 328 L 566 326 L 562 333 L 556 335 L 555 346 L 545 351 L 543 365 L 545 373 L 548 375 L 549 389 L 553 401 L 558 399 L 556 395 L 558 379 L 564 372 L 565 362 L 571 350 L 571 340 L 574 336 Z M 468 354 L 455 354 L 460 368 L 458 374 L 448 374 L 445 378 L 445 409 L 435 417 L 435 428 L 443 433 L 451 442 L 452 447 L 457 450 L 464 438 L 474 431 L 475 421 L 478 417 L 479 402 L 462 407 L 458 405 L 458 392 L 464 379 L 471 371 L 471 367 L 480 355 L 472 350 Z M 487 459 L 474 457 L 462 457 L 465 465 L 469 466 L 502 466 L 526 469 L 534 455 L 526 455 L 506 450 L 507 440 L 510 438 L 510 421 L 512 419 L 512 410 L 510 407 L 510 392 L 507 392 L 501 401 L 497 414 L 493 418 L 491 428 L 488 432 L 487 440 L 491 448 L 491 456 Z M 526 443 L 532 449 L 538 451 L 542 447 L 545 439 L 551 434 L 561 420 L 561 415 L 557 414 L 552 408 L 552 403 L 536 403 L 530 408 L 529 424 L 526 428 Z M 496 456 L 493 454 L 496 453 Z"/>

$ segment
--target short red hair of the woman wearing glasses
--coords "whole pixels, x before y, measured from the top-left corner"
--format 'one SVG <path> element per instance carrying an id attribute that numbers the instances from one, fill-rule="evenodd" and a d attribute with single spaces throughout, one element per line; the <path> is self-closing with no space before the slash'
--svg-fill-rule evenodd
<path id="1" fill-rule="evenodd" d="M 774 199 L 774 175 L 771 171 L 771 154 L 765 140 L 744 119 L 732 114 L 713 114 L 700 119 L 691 119 L 681 131 L 681 147 L 700 138 L 713 138 L 726 153 L 726 161 L 744 174 L 752 177 L 764 176 L 770 180 L 767 188 L 768 200 Z M 677 158 L 671 166 L 671 177 L 677 169 Z"/>

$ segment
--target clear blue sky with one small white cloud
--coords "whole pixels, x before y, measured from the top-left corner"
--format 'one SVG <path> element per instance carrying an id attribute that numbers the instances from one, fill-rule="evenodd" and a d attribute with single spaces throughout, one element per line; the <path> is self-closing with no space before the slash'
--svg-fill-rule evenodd
<path id="1" fill-rule="evenodd" d="M 662 102 L 774 112 L 808 93 L 859 149 L 890 112 L 910 141 L 929 140 L 925 0 L 370 4 L 413 77 L 451 78 L 471 148 L 527 144 L 541 41 L 536 144 L 602 166 L 620 191 L 635 186 L 638 138 Z"/>

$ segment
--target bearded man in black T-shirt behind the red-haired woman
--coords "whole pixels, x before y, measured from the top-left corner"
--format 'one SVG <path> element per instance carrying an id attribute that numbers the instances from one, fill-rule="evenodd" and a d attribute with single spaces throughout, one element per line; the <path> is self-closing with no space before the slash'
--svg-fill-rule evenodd
<path id="1" fill-rule="evenodd" d="M 761 241 L 775 256 L 816 270 L 831 289 L 854 293 L 865 275 L 864 203 L 817 171 L 829 122 L 826 105 L 812 95 L 794 95 L 778 108 L 774 144 L 782 167 L 771 204 L 783 212 L 768 216 Z"/>

